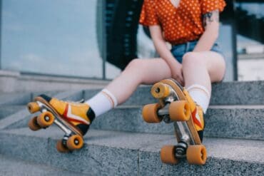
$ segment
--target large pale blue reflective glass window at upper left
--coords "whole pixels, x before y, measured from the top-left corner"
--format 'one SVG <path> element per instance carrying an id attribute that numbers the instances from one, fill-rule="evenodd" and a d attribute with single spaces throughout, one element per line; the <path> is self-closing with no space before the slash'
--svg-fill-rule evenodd
<path id="1" fill-rule="evenodd" d="M 96 4 L 96 0 L 2 0 L 2 68 L 102 78 Z"/>

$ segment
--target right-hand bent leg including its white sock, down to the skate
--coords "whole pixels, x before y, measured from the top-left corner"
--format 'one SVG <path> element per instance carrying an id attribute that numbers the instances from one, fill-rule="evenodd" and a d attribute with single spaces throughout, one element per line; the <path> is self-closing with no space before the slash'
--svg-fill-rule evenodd
<path id="1" fill-rule="evenodd" d="M 183 56 L 183 78 L 191 98 L 206 113 L 211 83 L 221 81 L 225 73 L 223 56 L 213 51 L 190 52 Z"/>

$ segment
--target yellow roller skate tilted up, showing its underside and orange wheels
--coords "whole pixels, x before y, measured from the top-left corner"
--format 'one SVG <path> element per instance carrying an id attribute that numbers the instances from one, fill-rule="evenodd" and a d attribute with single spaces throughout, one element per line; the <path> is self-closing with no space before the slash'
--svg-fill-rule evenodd
<path id="1" fill-rule="evenodd" d="M 186 88 L 173 79 L 153 85 L 151 94 L 158 103 L 143 107 L 143 120 L 147 123 L 173 123 L 177 145 L 161 148 L 161 161 L 177 164 L 186 158 L 189 164 L 204 165 L 206 149 L 203 140 L 203 110 L 192 100 Z"/>

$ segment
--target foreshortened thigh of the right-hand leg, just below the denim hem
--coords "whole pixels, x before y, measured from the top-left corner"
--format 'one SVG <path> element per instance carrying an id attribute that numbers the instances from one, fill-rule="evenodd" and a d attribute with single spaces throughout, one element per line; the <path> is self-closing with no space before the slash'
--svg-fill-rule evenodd
<path id="1" fill-rule="evenodd" d="M 199 54 L 201 55 L 200 58 L 205 61 L 211 82 L 222 81 L 225 75 L 225 59 L 223 56 L 214 51 L 202 51 Z"/>

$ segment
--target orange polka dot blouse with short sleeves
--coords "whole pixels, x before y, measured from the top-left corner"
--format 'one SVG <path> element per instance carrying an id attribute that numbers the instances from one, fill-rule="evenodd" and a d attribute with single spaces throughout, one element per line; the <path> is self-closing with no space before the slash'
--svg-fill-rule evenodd
<path id="1" fill-rule="evenodd" d="M 223 11 L 224 7 L 223 0 L 181 0 L 178 7 L 170 0 L 144 0 L 139 22 L 143 26 L 160 25 L 171 44 L 186 43 L 203 34 L 202 14 Z"/>

